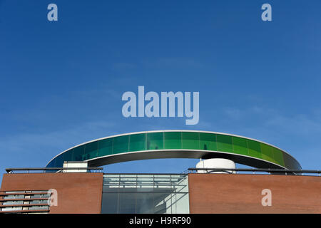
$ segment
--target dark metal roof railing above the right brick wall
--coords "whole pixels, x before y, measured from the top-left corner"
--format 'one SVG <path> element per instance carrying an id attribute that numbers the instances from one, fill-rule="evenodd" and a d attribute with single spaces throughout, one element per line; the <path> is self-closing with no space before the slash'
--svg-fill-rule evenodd
<path id="1" fill-rule="evenodd" d="M 304 175 L 304 174 L 315 174 L 312 176 L 320 176 L 321 170 L 282 170 L 282 169 L 230 169 L 230 168 L 188 168 L 189 172 L 193 171 L 206 171 L 208 173 L 213 172 L 224 172 L 230 174 L 242 174 L 245 172 L 252 172 L 253 174 L 258 174 L 258 172 L 267 172 L 270 175 Z M 260 173 L 262 174 L 262 173 Z"/>

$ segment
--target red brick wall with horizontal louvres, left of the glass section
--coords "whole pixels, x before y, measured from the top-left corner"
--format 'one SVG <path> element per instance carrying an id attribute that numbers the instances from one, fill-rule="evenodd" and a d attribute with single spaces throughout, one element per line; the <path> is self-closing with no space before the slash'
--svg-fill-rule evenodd
<path id="1" fill-rule="evenodd" d="M 58 206 L 49 213 L 101 213 L 103 173 L 5 174 L 1 191 L 56 189 Z"/>

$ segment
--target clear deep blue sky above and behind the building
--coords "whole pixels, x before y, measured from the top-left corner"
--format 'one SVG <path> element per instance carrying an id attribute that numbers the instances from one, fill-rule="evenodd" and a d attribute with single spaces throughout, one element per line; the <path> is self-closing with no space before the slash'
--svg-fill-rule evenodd
<path id="1" fill-rule="evenodd" d="M 47 6 L 58 6 L 58 21 Z M 272 21 L 260 7 L 272 6 Z M 321 1 L 0 0 L 0 170 L 141 130 L 244 135 L 321 162 Z M 124 118 L 121 95 L 199 91 L 200 122 Z M 106 172 L 182 172 L 145 160 Z"/>

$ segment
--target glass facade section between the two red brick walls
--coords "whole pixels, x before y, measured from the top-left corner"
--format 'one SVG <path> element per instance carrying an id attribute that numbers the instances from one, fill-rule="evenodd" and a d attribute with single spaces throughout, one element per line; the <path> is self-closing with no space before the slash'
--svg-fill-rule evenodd
<path id="1" fill-rule="evenodd" d="M 188 214 L 188 175 L 103 175 L 102 214 Z"/>

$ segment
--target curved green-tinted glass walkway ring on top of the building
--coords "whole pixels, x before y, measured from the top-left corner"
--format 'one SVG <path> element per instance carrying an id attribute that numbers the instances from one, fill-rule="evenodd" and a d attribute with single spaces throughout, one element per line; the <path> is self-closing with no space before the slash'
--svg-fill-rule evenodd
<path id="1" fill-rule="evenodd" d="M 146 150 L 208 150 L 245 155 L 275 163 L 287 169 L 300 170 L 300 164 L 286 152 L 264 142 L 219 133 L 163 131 L 137 133 L 106 138 L 63 152 L 47 165 L 62 167 L 63 161 L 89 160 L 123 152 Z M 245 164 L 246 165 L 246 164 Z"/>

